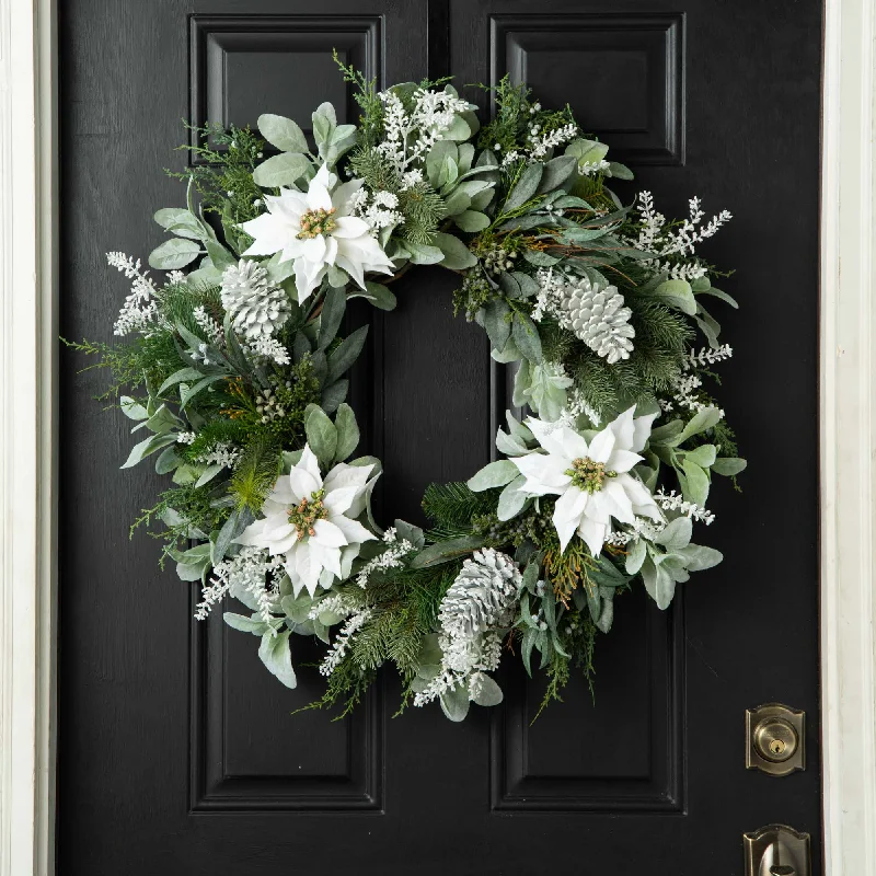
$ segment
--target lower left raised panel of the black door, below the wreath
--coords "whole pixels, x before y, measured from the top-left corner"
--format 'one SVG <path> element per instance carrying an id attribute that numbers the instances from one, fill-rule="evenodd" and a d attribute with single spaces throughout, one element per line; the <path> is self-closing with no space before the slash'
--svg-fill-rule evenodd
<path id="1" fill-rule="evenodd" d="M 292 638 L 298 666 L 319 661 L 313 642 Z M 320 710 L 293 714 L 322 695 L 322 678 L 303 669 L 289 691 L 265 671 L 256 646 L 218 612 L 194 624 L 191 810 L 380 812 L 379 690 L 339 722 Z"/>

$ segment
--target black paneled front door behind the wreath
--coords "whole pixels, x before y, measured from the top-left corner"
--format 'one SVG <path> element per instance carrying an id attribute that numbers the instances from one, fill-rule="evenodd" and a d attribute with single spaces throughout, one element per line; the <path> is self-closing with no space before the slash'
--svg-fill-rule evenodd
<path id="1" fill-rule="evenodd" d="M 667 215 L 694 194 L 733 211 L 707 255 L 737 268 L 722 399 L 749 471 L 712 503 L 726 561 L 667 613 L 625 598 L 595 704 L 573 683 L 530 726 L 541 691 L 514 665 L 505 705 L 461 725 L 437 707 L 392 719 L 393 678 L 331 723 L 290 714 L 315 670 L 279 685 L 250 637 L 192 621 L 157 543 L 129 542 L 158 477 L 118 472 L 127 427 L 65 355 L 59 874 L 741 874 L 741 833 L 776 821 L 810 832 L 818 862 L 820 23 L 817 0 L 62 4 L 65 336 L 112 339 L 123 291 L 103 253 L 159 242 L 152 211 L 184 196 L 161 172 L 184 166 L 182 118 L 307 119 L 328 100 L 355 120 L 333 47 L 381 84 L 509 71 L 635 170 L 627 201 L 647 188 Z M 353 405 L 385 465 L 378 514 L 418 520 L 428 482 L 489 459 L 504 382 L 481 330 L 452 318 L 453 280 L 420 268 L 397 310 L 367 315 Z M 775 700 L 808 726 L 806 771 L 781 780 L 744 758 L 745 710 Z"/>

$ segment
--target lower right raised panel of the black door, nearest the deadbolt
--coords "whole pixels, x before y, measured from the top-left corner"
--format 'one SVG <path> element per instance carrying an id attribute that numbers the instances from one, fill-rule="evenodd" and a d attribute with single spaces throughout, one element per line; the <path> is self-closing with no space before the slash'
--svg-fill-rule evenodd
<path id="1" fill-rule="evenodd" d="M 504 680 L 493 811 L 683 811 L 681 599 L 660 612 L 644 593 L 621 598 L 623 613 L 597 648 L 595 703 L 574 670 L 565 702 L 541 715 L 544 680 L 518 671 Z"/>

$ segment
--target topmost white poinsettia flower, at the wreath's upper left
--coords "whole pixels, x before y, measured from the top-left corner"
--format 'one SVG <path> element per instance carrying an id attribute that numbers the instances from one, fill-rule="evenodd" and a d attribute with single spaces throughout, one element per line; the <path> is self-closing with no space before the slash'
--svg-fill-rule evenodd
<path id="1" fill-rule="evenodd" d="M 281 262 L 292 260 L 299 303 L 322 283 L 331 265 L 362 289 L 369 270 L 392 274 L 393 264 L 368 223 L 351 215 L 353 196 L 362 183 L 350 180 L 337 185 L 337 176 L 323 164 L 307 192 L 281 188 L 279 195 L 265 195 L 267 212 L 241 224 L 253 238 L 243 255 L 281 253 Z"/>

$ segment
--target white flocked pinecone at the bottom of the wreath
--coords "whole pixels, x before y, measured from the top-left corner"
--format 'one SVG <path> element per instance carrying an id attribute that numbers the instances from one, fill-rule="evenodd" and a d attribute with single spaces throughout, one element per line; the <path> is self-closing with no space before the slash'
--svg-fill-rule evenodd
<path id="1" fill-rule="evenodd" d="M 507 626 L 514 619 L 520 583 L 520 570 L 507 554 L 492 548 L 476 551 L 441 600 L 438 619 L 442 632 L 471 639 Z"/>

